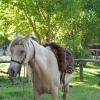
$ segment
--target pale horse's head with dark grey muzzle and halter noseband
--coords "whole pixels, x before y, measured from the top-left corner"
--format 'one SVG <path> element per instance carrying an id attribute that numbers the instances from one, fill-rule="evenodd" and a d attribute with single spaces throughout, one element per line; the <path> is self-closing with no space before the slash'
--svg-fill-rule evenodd
<path id="1" fill-rule="evenodd" d="M 11 62 L 8 68 L 10 76 L 16 76 L 21 69 L 21 65 L 29 61 L 32 51 L 28 39 L 20 36 L 14 39 L 10 45 Z M 31 52 L 31 54 L 30 54 Z"/>

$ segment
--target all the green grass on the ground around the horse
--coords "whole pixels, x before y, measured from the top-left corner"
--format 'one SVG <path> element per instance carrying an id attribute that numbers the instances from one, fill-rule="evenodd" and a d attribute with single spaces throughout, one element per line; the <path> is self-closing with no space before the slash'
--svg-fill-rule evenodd
<path id="1" fill-rule="evenodd" d="M 0 65 L 6 69 L 6 65 Z M 68 100 L 99 100 L 100 98 L 100 67 L 87 64 L 84 68 L 84 81 L 79 81 L 79 69 L 76 68 L 72 75 L 72 81 Z M 24 92 L 23 92 L 24 91 Z M 0 100 L 32 100 L 32 83 L 20 82 L 12 85 L 7 76 L 0 74 Z M 62 100 L 62 92 L 59 90 L 59 100 Z M 42 96 L 42 100 L 52 100 L 49 94 Z"/>

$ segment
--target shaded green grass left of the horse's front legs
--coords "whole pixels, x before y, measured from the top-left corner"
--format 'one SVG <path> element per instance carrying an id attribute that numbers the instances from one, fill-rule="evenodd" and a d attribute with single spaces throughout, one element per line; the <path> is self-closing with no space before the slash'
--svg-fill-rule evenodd
<path id="1" fill-rule="evenodd" d="M 32 83 L 12 85 L 7 77 L 0 76 L 0 100 L 33 100 L 32 93 Z"/>

